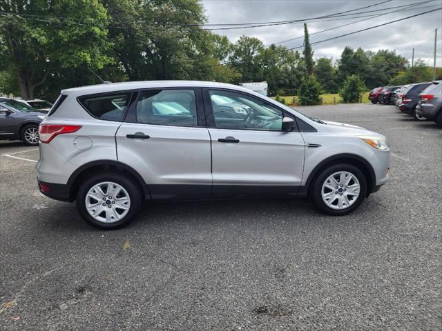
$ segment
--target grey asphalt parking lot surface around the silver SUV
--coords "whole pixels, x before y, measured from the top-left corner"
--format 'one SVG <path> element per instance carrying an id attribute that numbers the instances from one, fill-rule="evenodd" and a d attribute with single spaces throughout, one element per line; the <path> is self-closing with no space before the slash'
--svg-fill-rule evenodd
<path id="1" fill-rule="evenodd" d="M 39 193 L 38 150 L 0 142 L 1 330 L 441 330 L 442 130 L 394 106 L 298 109 L 389 139 L 390 181 L 353 214 L 147 203 L 100 231 Z"/>

